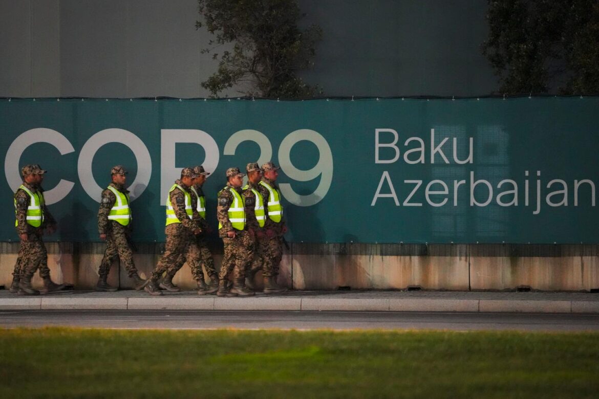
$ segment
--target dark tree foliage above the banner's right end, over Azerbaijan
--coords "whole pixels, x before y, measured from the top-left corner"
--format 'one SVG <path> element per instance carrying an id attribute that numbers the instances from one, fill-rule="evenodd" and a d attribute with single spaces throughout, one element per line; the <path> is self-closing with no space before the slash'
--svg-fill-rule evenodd
<path id="1" fill-rule="evenodd" d="M 502 93 L 599 93 L 597 0 L 489 0 L 487 20 Z"/>

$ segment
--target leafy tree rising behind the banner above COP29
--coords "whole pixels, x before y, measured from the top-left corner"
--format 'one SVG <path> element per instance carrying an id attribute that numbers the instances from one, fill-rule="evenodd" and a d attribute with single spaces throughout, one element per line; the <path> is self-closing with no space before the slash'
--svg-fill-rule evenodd
<path id="1" fill-rule="evenodd" d="M 196 29 L 206 26 L 214 35 L 202 53 L 219 60 L 217 71 L 202 82 L 211 95 L 234 86 L 247 96 L 268 98 L 319 93 L 296 72 L 314 65 L 322 30 L 316 25 L 298 28 L 301 14 L 295 0 L 198 0 L 198 5 L 204 22 L 196 22 Z M 216 52 L 228 43 L 232 50 Z"/>

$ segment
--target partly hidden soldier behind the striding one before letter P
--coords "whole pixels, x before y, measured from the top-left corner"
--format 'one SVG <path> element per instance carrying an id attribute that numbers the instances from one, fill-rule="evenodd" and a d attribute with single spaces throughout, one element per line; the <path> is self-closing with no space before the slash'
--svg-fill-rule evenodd
<path id="1" fill-rule="evenodd" d="M 198 177 L 193 179 L 193 185 L 191 187 L 192 206 L 196 208 L 197 212 L 194 217 L 195 221 L 199 224 L 199 228 L 202 229 L 202 233 L 192 237 L 198 246 L 198 257 L 187 259 L 187 263 L 189 263 L 193 275 L 199 277 L 198 295 L 213 294 L 216 293 L 219 288 L 219 278 L 214 269 L 214 260 L 210 249 L 208 249 L 208 242 L 206 240 L 206 234 L 210 233 L 211 229 L 206 221 L 206 200 L 204 191 L 202 191 L 202 185 L 204 185 L 204 182 L 210 173 L 206 172 L 203 166 L 193 167 L 193 172 L 195 172 Z M 205 284 L 202 265 L 210 278 L 210 285 Z"/>

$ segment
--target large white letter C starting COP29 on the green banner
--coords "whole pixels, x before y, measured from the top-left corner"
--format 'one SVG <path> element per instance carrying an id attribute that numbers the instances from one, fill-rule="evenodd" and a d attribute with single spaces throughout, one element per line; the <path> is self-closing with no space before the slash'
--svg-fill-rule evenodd
<path id="1" fill-rule="evenodd" d="M 37 127 L 21 133 L 8 147 L 6 158 L 4 159 L 4 173 L 8 185 L 13 191 L 22 183 L 21 171 L 19 169 L 20 159 L 27 147 L 38 142 L 52 144 L 60 155 L 69 154 L 75 151 L 71 142 L 61 135 L 56 130 L 47 129 L 46 127 Z M 44 199 L 47 205 L 59 202 L 71 192 L 74 182 L 60 179 L 56 187 L 47 190 L 44 193 Z"/>

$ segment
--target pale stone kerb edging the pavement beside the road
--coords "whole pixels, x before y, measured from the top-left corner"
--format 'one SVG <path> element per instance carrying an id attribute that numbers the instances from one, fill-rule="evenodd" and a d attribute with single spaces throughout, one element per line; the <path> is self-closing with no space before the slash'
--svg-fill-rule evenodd
<path id="1" fill-rule="evenodd" d="M 77 298 L 0 299 L 0 310 L 287 310 L 354 312 L 599 313 L 599 301 L 486 299 L 338 299 L 318 297 L 250 298 Z"/>

